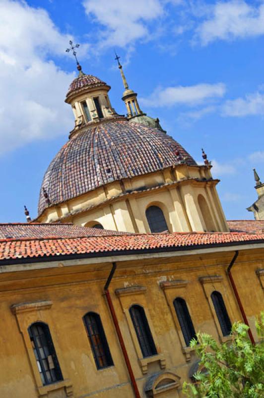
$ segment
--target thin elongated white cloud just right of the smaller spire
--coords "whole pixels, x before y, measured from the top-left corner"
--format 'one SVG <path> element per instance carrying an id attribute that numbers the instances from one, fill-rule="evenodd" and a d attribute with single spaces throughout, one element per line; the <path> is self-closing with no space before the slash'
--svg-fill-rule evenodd
<path id="1" fill-rule="evenodd" d="M 140 102 L 149 107 L 171 106 L 175 104 L 194 105 L 204 100 L 223 97 L 226 92 L 223 83 L 195 86 L 158 87 L 148 98 L 141 98 Z"/>

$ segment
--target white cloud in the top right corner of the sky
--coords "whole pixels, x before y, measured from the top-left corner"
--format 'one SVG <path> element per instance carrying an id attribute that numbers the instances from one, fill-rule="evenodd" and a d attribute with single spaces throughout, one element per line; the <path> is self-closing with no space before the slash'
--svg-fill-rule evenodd
<path id="1" fill-rule="evenodd" d="M 203 45 L 214 40 L 233 40 L 264 34 L 264 4 L 244 0 L 217 1 L 211 14 L 197 28 Z"/>

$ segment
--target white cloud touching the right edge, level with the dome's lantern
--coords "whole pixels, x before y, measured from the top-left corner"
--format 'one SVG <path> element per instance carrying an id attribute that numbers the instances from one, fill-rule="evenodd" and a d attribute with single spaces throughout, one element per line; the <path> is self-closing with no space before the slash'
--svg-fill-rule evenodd
<path id="1" fill-rule="evenodd" d="M 225 116 L 264 115 L 264 94 L 257 92 L 248 94 L 245 98 L 227 100 L 222 106 Z"/>

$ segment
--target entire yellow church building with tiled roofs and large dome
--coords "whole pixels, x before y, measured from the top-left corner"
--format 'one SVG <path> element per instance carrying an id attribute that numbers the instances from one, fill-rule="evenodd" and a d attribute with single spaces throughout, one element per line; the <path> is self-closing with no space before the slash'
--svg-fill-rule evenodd
<path id="1" fill-rule="evenodd" d="M 226 220 L 206 154 L 143 113 L 119 69 L 127 116 L 78 65 L 38 216 L 0 224 L 1 398 L 183 397 L 198 331 L 226 342 L 241 320 L 258 340 L 264 222 Z"/>

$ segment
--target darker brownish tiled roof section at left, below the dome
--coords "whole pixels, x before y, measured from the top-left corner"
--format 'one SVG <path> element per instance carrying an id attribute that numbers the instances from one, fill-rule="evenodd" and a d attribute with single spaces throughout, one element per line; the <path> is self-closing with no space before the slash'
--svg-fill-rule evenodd
<path id="1" fill-rule="evenodd" d="M 5 238 L 77 238 L 81 236 L 124 235 L 126 232 L 82 227 L 73 224 L 0 223 L 0 239 Z"/>

